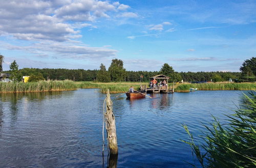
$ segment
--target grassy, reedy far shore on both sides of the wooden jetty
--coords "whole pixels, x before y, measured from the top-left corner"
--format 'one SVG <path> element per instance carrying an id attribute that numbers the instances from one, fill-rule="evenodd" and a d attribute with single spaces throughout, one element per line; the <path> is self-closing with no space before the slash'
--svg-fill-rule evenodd
<path id="1" fill-rule="evenodd" d="M 56 92 L 73 91 L 77 89 L 99 89 L 101 93 L 125 93 L 133 86 L 136 90 L 140 85 L 146 85 L 147 82 L 110 82 L 100 83 L 91 81 L 74 82 L 72 80 L 50 80 L 38 82 L 0 82 L 0 93 L 29 93 L 29 92 Z M 173 83 L 169 83 L 170 86 Z M 218 90 L 256 90 L 255 82 L 244 83 L 175 83 L 175 92 L 189 92 L 189 88 L 198 88 L 199 91 L 218 91 Z"/>

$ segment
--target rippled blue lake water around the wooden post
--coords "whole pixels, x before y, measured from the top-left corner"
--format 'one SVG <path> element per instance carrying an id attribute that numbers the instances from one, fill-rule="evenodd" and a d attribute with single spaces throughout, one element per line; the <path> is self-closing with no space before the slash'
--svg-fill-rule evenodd
<path id="1" fill-rule="evenodd" d="M 212 117 L 225 122 L 240 91 L 151 94 L 129 100 L 112 94 L 118 167 L 190 167 L 194 163 L 182 124 L 197 138 Z M 104 94 L 97 89 L 1 94 L 0 167 L 106 167 L 102 158 Z M 199 165 L 196 162 L 196 165 Z"/>

